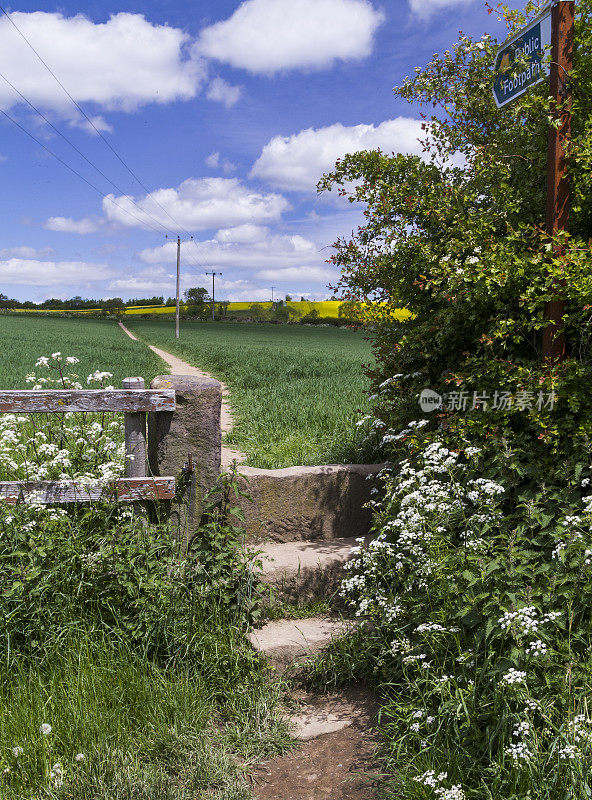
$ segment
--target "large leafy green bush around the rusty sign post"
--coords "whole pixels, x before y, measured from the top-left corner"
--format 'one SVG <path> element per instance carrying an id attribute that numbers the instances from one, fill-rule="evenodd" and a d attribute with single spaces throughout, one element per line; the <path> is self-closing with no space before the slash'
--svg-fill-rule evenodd
<path id="1" fill-rule="evenodd" d="M 490 8 L 509 33 L 539 12 Z M 323 177 L 364 206 L 364 224 L 335 244 L 339 289 L 352 300 L 385 303 L 375 320 L 383 417 L 403 427 L 420 415 L 418 393 L 463 390 L 466 414 L 433 415 L 447 430 L 525 437 L 541 453 L 567 452 L 592 434 L 587 387 L 592 378 L 592 3 L 578 3 L 576 56 L 570 76 L 573 138 L 570 233 L 553 255 L 545 234 L 547 132 L 559 108 L 548 82 L 503 109 L 492 97 L 501 44 L 461 34 L 443 54 L 394 89 L 419 104 L 422 157 L 378 150 L 351 154 Z M 550 59 L 550 56 L 549 56 Z M 520 63 L 517 62 L 518 67 Z M 542 359 L 545 302 L 566 299 L 567 358 Z M 413 318 L 394 320 L 405 305 Z M 557 408 L 472 408 L 473 393 L 555 391 Z M 530 449 L 531 455 L 537 447 Z"/>

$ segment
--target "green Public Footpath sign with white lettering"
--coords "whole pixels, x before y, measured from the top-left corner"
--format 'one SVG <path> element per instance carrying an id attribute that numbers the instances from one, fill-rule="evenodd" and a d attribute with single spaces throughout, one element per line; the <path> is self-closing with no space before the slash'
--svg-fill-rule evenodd
<path id="1" fill-rule="evenodd" d="M 498 108 L 511 103 L 549 74 L 551 7 L 503 44 L 495 57 L 493 96 Z M 520 64 L 516 64 L 519 61 Z"/>

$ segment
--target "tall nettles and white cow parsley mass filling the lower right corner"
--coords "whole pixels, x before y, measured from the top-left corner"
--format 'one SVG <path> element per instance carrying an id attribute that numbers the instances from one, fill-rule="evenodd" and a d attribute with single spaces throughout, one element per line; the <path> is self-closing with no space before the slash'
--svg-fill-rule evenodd
<path id="1" fill-rule="evenodd" d="M 512 512 L 511 480 L 482 477 L 478 448 L 411 427 L 342 587 L 370 623 L 393 796 L 589 797 L 590 479 L 577 512 L 544 486 Z"/>

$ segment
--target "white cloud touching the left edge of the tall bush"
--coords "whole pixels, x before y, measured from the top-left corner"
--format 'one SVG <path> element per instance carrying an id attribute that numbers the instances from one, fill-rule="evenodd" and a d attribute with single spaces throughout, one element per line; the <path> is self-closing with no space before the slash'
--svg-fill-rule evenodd
<path id="1" fill-rule="evenodd" d="M 281 189 L 312 191 L 322 174 L 346 153 L 379 147 L 387 153 L 420 155 L 421 134 L 419 120 L 397 117 L 376 126 L 347 127 L 338 122 L 327 128 L 307 128 L 292 136 L 274 136 L 253 165 L 251 177 Z"/>

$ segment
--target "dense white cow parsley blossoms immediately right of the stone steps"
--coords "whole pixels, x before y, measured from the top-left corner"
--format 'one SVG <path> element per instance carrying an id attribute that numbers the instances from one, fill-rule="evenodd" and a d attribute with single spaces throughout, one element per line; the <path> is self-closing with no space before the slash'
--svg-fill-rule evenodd
<path id="1" fill-rule="evenodd" d="M 409 429 L 419 426 L 410 423 Z M 425 589 L 437 567 L 434 537 L 453 525 L 456 528 L 463 519 L 462 544 L 471 546 L 475 539 L 482 546 L 481 531 L 497 519 L 502 486 L 481 478 L 467 480 L 462 455 L 439 442 L 425 448 L 422 460 L 420 468 L 403 461 L 396 475 L 384 476 L 386 500 L 374 502 L 380 532 L 368 544 L 359 540 L 352 550 L 341 594 L 357 616 L 394 622 L 404 609 L 405 597 Z M 430 632 L 443 633 L 444 626 L 426 621 L 417 629 L 418 634 Z M 448 628 L 448 632 L 454 631 Z"/>

